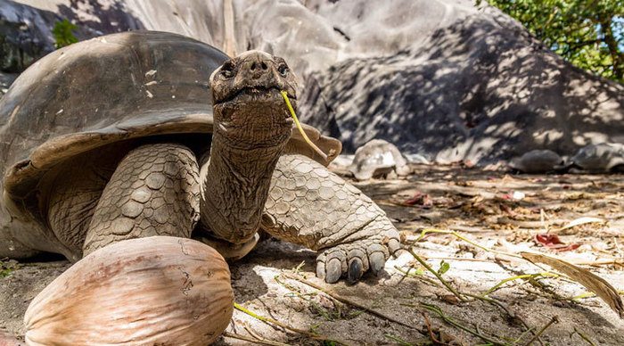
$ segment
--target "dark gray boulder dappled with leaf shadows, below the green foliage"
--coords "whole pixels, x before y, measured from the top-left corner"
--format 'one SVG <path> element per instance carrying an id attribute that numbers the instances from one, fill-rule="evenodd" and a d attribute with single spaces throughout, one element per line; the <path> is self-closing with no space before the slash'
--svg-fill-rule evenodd
<path id="1" fill-rule="evenodd" d="M 382 138 L 434 161 L 487 164 L 624 141 L 624 86 L 563 62 L 495 10 L 422 47 L 340 62 L 307 84 L 316 86 L 302 118 L 348 152 Z"/>

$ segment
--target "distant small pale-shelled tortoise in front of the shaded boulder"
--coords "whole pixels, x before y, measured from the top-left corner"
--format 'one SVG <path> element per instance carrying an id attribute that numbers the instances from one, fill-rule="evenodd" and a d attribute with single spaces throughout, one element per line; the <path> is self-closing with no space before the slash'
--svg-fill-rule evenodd
<path id="1" fill-rule="evenodd" d="M 391 173 L 406 176 L 411 172 L 397 146 L 382 139 L 374 139 L 357 148 L 349 170 L 357 180 L 387 176 Z"/>

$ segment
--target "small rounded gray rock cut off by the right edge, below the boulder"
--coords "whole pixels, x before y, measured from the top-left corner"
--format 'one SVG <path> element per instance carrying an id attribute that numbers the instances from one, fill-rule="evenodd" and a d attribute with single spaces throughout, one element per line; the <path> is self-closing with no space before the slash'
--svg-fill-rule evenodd
<path id="1" fill-rule="evenodd" d="M 589 172 L 624 172 L 624 144 L 603 143 L 584 146 L 571 163 Z"/>

